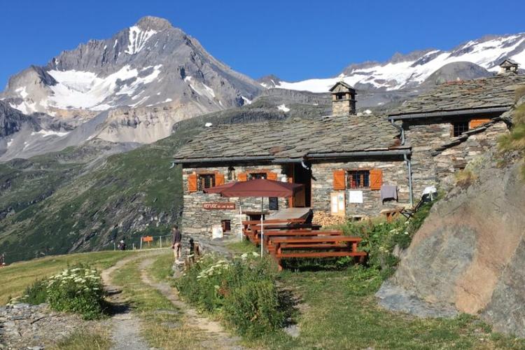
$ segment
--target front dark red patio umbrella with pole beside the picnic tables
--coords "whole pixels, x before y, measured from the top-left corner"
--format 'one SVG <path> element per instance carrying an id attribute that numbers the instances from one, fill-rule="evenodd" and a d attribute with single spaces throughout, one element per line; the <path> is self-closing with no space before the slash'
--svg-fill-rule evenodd
<path id="1" fill-rule="evenodd" d="M 260 197 L 260 256 L 262 257 L 262 240 L 264 236 L 262 224 L 262 204 L 264 197 L 291 197 L 302 188 L 298 183 L 287 183 L 266 179 L 237 181 L 221 190 L 223 197 Z"/>

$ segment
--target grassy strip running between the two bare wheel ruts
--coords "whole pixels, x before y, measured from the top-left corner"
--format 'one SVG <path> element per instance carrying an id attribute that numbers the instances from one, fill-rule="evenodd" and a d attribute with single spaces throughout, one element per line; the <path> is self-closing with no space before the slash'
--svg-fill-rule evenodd
<path id="1" fill-rule="evenodd" d="M 153 266 L 166 265 L 168 257 L 172 256 L 171 252 L 159 255 Z M 141 335 L 157 349 L 200 349 L 200 331 L 188 326 L 186 316 L 162 293 L 141 281 L 140 261 L 132 260 L 118 269 L 113 274 L 113 283 L 123 287 L 123 295 L 130 300 L 133 312 L 141 318 Z M 148 273 L 152 269 L 148 269 Z M 155 275 L 165 276 L 165 272 L 155 272 Z"/>

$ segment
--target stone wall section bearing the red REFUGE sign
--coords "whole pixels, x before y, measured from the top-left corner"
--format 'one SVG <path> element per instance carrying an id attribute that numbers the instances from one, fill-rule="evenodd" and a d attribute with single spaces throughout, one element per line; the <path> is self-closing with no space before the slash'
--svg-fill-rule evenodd
<path id="1" fill-rule="evenodd" d="M 231 221 L 230 234 L 237 235 L 241 230 L 241 219 L 239 218 L 239 203 L 242 211 L 260 211 L 260 198 L 225 198 L 218 194 L 208 194 L 202 191 L 190 193 L 188 190 L 188 175 L 193 172 L 221 172 L 225 174 L 225 183 L 235 181 L 238 174 L 246 171 L 265 170 L 279 174 L 281 179 L 280 165 L 264 165 L 264 166 L 246 166 L 235 167 L 233 171 L 232 180 L 228 180 L 228 167 L 209 167 L 209 168 L 186 168 L 183 169 L 183 216 L 182 216 L 182 230 L 190 235 L 204 235 L 211 237 L 211 231 L 214 225 L 221 225 L 221 221 Z M 235 209 L 204 209 L 204 203 L 209 202 L 232 202 L 235 203 Z M 264 199 L 264 211 L 268 209 L 268 198 Z M 279 198 L 279 209 L 286 208 L 288 200 L 286 198 Z M 269 211 L 272 213 L 273 211 Z M 242 220 L 246 220 L 246 216 L 242 216 Z"/>

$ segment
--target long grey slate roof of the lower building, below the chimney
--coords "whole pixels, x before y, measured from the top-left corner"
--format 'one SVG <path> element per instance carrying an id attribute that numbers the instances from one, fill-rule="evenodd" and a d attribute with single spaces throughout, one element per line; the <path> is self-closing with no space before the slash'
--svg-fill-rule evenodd
<path id="1" fill-rule="evenodd" d="M 219 125 L 180 148 L 175 160 L 198 158 L 302 158 L 316 153 L 386 151 L 398 131 L 378 116 L 327 116 Z M 408 148 L 408 146 L 405 146 Z"/>

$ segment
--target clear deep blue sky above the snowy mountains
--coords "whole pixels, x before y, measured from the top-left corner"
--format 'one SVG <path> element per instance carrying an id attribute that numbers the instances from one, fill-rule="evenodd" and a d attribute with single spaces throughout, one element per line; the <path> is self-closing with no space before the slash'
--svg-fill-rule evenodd
<path id="1" fill-rule="evenodd" d="M 337 75 L 394 52 L 450 49 L 484 34 L 525 31 L 525 1 L 7 1 L 0 3 L 0 88 L 90 38 L 144 15 L 167 18 L 211 55 L 253 78 Z"/>

